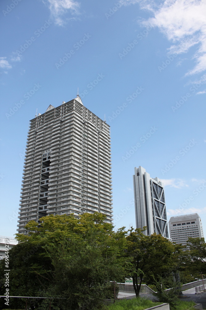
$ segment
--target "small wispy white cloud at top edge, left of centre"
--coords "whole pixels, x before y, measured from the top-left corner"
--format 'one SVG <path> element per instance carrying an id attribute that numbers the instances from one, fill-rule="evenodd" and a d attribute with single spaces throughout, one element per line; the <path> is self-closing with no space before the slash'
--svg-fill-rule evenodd
<path id="1" fill-rule="evenodd" d="M 51 17 L 54 19 L 55 24 L 62 26 L 65 24 L 65 20 L 62 15 L 67 13 L 68 10 L 72 14 L 78 14 L 79 3 L 74 0 L 43 0 L 48 5 L 51 12 Z"/>

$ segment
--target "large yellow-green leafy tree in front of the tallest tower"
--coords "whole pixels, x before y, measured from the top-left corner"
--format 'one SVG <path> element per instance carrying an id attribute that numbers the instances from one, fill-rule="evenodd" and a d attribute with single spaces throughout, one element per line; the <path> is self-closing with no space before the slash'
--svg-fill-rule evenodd
<path id="1" fill-rule="evenodd" d="M 60 309 L 86 310 L 100 305 L 108 293 L 109 281 L 124 279 L 129 264 L 124 228 L 114 232 L 105 218 L 96 212 L 85 213 L 80 219 L 74 215 L 49 215 L 41 218 L 41 225 L 30 221 L 26 225 L 29 235 L 17 234 L 21 243 L 15 249 L 16 262 L 15 256 L 11 257 L 11 268 L 15 272 L 14 264 L 18 276 L 12 276 L 10 294 L 19 295 L 18 285 L 25 281 L 22 295 L 65 298 L 56 300 Z M 38 250 L 25 260 L 26 272 L 22 276 L 23 257 L 32 246 Z M 27 277 L 31 281 L 26 281 Z"/>

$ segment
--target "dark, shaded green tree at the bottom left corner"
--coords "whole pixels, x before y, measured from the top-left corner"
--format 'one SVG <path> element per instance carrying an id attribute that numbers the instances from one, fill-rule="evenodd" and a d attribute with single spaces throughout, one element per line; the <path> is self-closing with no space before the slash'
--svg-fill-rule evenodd
<path id="1" fill-rule="evenodd" d="M 11 296 L 43 296 L 52 281 L 53 266 L 45 257 L 42 243 L 22 242 L 9 250 L 9 294 Z M 0 295 L 5 293 L 5 260 L 0 261 Z M 5 308 L 4 299 L 0 299 L 0 309 Z M 11 308 L 25 308 L 25 299 L 11 298 Z M 29 300 L 29 305 L 35 305 Z"/>

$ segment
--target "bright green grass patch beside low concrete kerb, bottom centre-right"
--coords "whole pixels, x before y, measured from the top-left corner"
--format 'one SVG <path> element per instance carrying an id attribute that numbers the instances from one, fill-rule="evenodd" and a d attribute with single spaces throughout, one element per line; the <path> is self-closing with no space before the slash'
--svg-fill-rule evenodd
<path id="1" fill-rule="evenodd" d="M 162 303 L 153 303 L 146 298 L 132 298 L 117 300 L 115 303 L 107 306 L 108 310 L 144 310 L 150 307 L 161 305 Z"/>

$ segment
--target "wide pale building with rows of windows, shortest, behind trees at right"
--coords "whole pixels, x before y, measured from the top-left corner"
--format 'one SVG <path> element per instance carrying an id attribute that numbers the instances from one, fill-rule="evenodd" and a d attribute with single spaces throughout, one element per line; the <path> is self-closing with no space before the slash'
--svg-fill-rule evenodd
<path id="1" fill-rule="evenodd" d="M 177 244 L 187 245 L 188 237 L 204 238 L 202 222 L 197 213 L 172 216 L 169 229 L 172 241 Z"/>

